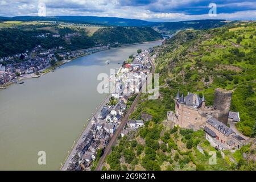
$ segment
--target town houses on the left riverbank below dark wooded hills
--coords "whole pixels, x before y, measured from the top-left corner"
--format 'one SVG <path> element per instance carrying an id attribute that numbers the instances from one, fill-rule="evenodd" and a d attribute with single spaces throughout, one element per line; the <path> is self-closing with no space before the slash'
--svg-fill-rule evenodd
<path id="1" fill-rule="evenodd" d="M 39 36 L 39 35 L 38 35 Z M 48 35 L 40 35 L 42 38 Z M 56 34 L 57 36 L 57 34 Z M 67 36 L 78 36 L 76 34 L 70 34 Z M 18 77 L 22 77 L 26 74 L 39 72 L 50 66 L 51 60 L 59 61 L 63 59 L 72 59 L 73 57 L 80 56 L 82 54 L 89 54 L 102 49 L 106 49 L 106 46 L 95 47 L 90 49 L 82 49 L 79 51 L 62 51 L 63 46 L 53 47 L 51 49 L 44 49 L 38 45 L 32 49 L 31 52 L 26 50 L 24 53 L 19 53 L 13 56 L 2 57 L 0 59 L 0 85 L 8 82 L 14 82 Z M 58 59 L 55 56 L 57 53 Z M 2 64 L 1 64 L 2 63 Z M 6 64 L 9 63 L 9 64 Z M 3 65 L 5 64 L 5 65 Z M 15 80 L 14 80 L 15 79 Z"/>

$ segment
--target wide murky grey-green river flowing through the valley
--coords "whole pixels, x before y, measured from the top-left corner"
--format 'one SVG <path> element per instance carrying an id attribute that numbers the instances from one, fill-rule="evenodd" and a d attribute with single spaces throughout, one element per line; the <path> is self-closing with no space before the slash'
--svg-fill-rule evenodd
<path id="1" fill-rule="evenodd" d="M 119 68 L 136 44 L 79 57 L 55 72 L 0 90 L 0 170 L 59 170 L 86 121 L 106 97 L 97 92 L 99 73 Z M 106 65 L 106 60 L 110 64 Z M 38 152 L 46 152 L 46 165 Z"/>

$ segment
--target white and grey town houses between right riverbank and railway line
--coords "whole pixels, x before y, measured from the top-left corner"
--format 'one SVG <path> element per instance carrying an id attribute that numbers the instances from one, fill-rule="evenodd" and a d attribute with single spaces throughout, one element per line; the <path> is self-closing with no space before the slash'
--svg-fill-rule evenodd
<path id="1" fill-rule="evenodd" d="M 148 53 L 143 52 L 143 57 Z M 135 65 L 135 64 L 134 64 Z M 139 69 L 142 68 L 142 64 Z M 133 72 L 133 71 L 131 71 Z M 123 77 L 119 76 L 114 81 L 122 82 Z M 119 81 L 118 81 L 119 80 Z M 120 81 L 121 80 L 121 81 Z M 133 94 L 123 94 L 122 84 L 116 84 L 118 93 L 113 93 L 110 100 L 115 102 L 109 102 L 101 108 L 97 117 L 93 117 L 90 122 L 92 127 L 90 132 L 84 136 L 82 142 L 76 147 L 76 154 L 73 154 L 71 161 L 69 162 L 68 170 L 90 170 L 93 160 L 97 158 L 97 151 L 106 147 L 109 143 L 109 139 L 115 133 L 115 130 L 119 127 L 122 122 L 122 117 L 126 113 L 127 102 Z M 111 103 L 116 103 L 111 105 Z M 122 130 L 121 136 L 123 137 L 130 130 L 138 129 L 144 126 L 142 120 L 130 120 L 127 122 L 125 129 Z"/>

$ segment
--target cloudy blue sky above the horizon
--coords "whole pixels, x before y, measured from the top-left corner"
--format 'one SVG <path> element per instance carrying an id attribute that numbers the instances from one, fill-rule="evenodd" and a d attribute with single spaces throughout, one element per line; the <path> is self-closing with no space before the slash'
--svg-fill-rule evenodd
<path id="1" fill-rule="evenodd" d="M 115 16 L 153 21 L 256 19 L 255 0 L 0 0 L 0 16 L 36 16 L 40 3 L 45 3 L 47 16 Z M 210 3 L 217 5 L 216 17 L 208 15 Z"/>

